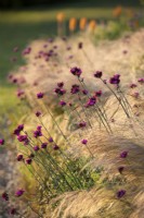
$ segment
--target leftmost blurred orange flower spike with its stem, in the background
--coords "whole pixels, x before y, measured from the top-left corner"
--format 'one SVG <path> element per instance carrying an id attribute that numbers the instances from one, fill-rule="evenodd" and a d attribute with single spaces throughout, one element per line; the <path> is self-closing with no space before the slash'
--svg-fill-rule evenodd
<path id="1" fill-rule="evenodd" d="M 65 14 L 63 12 L 57 13 L 56 20 L 57 20 L 57 35 L 63 36 L 64 35 Z"/>

